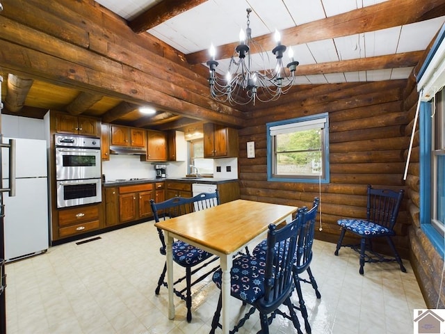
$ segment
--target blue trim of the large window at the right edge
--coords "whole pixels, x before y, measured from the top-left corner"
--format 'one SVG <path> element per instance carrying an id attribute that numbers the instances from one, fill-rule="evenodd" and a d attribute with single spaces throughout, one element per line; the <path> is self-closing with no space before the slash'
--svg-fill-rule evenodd
<path id="1" fill-rule="evenodd" d="M 421 102 L 419 110 L 420 122 L 420 226 L 431 241 L 432 246 L 444 259 L 445 241 L 431 225 L 431 102 Z"/>

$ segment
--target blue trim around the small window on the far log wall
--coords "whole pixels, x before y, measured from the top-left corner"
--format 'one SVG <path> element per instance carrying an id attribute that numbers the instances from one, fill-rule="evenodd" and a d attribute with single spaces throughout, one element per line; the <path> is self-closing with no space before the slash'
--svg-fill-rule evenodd
<path id="1" fill-rule="evenodd" d="M 325 129 L 323 129 L 323 141 L 325 143 L 325 158 L 323 164 L 325 166 L 325 177 L 321 180 L 317 177 L 314 178 L 295 178 L 295 177 L 273 177 L 272 166 L 273 166 L 273 148 L 272 148 L 272 136 L 270 136 L 270 127 L 275 127 L 277 125 L 284 125 L 296 122 L 305 122 L 307 120 L 316 120 L 318 118 L 326 118 Z M 292 118 L 291 120 L 280 120 L 277 122 L 266 123 L 266 134 L 267 134 L 267 180 L 272 182 L 307 182 L 307 183 L 329 183 L 330 182 L 330 166 L 329 166 L 329 114 L 319 113 L 313 116 L 303 116 L 299 118 Z"/>

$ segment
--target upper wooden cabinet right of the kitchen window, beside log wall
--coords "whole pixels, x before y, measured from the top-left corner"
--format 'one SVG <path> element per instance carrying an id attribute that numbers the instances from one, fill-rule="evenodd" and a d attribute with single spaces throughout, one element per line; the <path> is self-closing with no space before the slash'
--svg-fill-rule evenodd
<path id="1" fill-rule="evenodd" d="M 223 125 L 204 123 L 204 158 L 238 157 L 238 132 Z"/>

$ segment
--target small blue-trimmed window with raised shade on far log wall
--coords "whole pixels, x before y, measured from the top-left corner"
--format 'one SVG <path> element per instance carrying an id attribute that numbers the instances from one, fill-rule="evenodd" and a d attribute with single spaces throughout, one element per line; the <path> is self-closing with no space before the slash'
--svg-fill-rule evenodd
<path id="1" fill-rule="evenodd" d="M 268 181 L 329 182 L 328 120 L 322 113 L 266 124 Z"/>

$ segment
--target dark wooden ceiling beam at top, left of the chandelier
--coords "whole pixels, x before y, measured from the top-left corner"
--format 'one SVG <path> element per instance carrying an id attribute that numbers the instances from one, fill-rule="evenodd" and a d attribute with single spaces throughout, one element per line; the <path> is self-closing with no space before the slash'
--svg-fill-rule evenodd
<path id="1" fill-rule="evenodd" d="M 164 0 L 132 19 L 128 25 L 135 33 L 142 33 L 206 1 Z"/>

